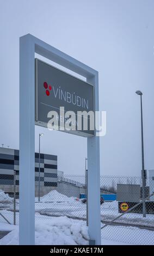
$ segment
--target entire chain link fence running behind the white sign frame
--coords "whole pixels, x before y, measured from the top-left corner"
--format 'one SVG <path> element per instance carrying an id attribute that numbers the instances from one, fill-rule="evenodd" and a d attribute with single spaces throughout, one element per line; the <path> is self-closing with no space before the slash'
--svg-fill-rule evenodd
<path id="1" fill-rule="evenodd" d="M 58 176 L 57 186 L 48 185 L 40 186 L 40 201 L 39 186 L 35 186 L 35 220 L 67 216 L 75 222 L 86 224 L 87 182 L 85 176 Z M 128 245 L 154 244 L 153 191 L 154 178 L 151 176 L 146 179 L 146 217 L 143 217 L 143 192 L 140 177 L 101 176 L 102 243 L 103 240 L 112 240 L 113 244 L 115 241 L 116 244 Z M 15 171 L 10 179 L 6 179 L 5 174 L 1 174 L 0 222 L 19 224 L 19 171 Z"/>

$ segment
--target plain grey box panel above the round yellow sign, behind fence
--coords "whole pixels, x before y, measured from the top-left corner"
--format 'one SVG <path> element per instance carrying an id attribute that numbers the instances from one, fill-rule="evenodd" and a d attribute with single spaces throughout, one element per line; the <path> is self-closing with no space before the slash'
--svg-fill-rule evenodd
<path id="1" fill-rule="evenodd" d="M 140 185 L 117 184 L 116 201 L 139 202 Z"/>

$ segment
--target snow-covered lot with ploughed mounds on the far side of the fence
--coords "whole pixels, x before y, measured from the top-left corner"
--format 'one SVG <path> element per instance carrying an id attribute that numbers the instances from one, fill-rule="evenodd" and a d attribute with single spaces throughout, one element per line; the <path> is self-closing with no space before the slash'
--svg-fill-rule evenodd
<path id="1" fill-rule="evenodd" d="M 10 198 L 3 191 L 0 191 L 0 210 L 13 210 L 13 198 Z M 46 216 L 67 216 L 71 218 L 86 219 L 86 204 L 81 200 L 77 201 L 75 197 L 67 197 L 60 194 L 56 190 L 51 191 L 44 197 L 35 198 L 35 212 Z M 19 200 L 16 200 L 16 210 L 19 211 Z M 118 202 L 105 202 L 101 205 L 101 219 L 104 222 L 112 221 L 115 217 L 119 216 Z M 147 214 L 143 218 L 141 214 L 126 214 L 116 223 L 132 224 L 132 225 L 146 225 L 146 227 L 154 228 L 154 215 Z"/>

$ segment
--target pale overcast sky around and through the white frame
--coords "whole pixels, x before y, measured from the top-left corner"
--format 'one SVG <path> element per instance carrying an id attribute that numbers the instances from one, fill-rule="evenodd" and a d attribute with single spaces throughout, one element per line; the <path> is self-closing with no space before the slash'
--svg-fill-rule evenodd
<path id="1" fill-rule="evenodd" d="M 153 0 L 1 0 L 0 144 L 19 148 L 19 37 L 30 33 L 99 72 L 101 174 L 140 175 L 143 91 L 145 167 L 154 169 Z M 87 139 L 35 127 L 35 149 L 58 155 L 58 169 L 84 174 Z"/>

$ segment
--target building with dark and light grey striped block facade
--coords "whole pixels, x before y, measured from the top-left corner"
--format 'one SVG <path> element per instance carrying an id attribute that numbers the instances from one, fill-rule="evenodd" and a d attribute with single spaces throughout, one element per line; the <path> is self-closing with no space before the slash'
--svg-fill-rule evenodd
<path id="1" fill-rule="evenodd" d="M 19 193 L 19 150 L 0 148 L 0 189 L 10 196 Z M 35 153 L 35 196 L 38 196 L 39 153 Z M 40 154 L 40 196 L 57 188 L 57 156 Z"/>

